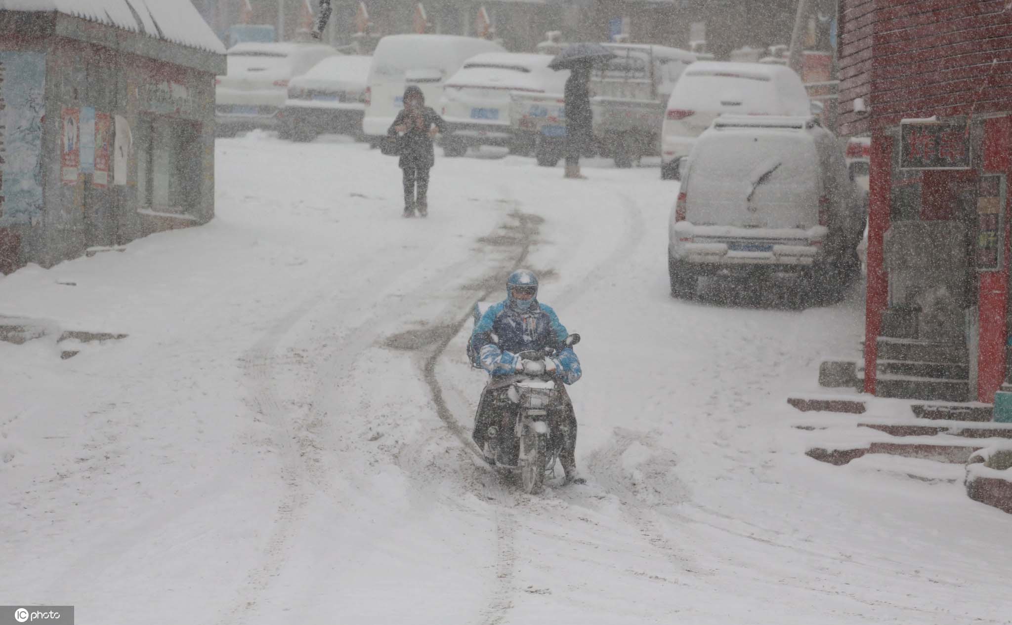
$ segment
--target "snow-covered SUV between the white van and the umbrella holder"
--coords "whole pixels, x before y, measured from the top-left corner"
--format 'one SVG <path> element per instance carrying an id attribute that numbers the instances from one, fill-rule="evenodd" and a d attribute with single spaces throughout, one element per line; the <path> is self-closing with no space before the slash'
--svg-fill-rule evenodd
<path id="1" fill-rule="evenodd" d="M 562 97 L 569 72 L 549 69 L 552 57 L 485 53 L 468 60 L 446 81 L 437 110 L 447 131 L 442 146 L 447 156 L 461 155 L 469 146 L 506 146 L 514 152 L 534 149 L 535 139 L 510 124 L 513 93 Z"/>

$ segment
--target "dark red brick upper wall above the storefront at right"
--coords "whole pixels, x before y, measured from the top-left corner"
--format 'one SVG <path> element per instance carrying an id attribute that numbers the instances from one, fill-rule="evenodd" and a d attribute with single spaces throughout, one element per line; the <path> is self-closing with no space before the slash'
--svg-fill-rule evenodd
<path id="1" fill-rule="evenodd" d="M 843 0 L 840 131 L 1012 109 L 1007 0 Z M 873 54 L 872 54 L 873 53 Z M 870 92 L 870 97 L 869 97 Z M 863 97 L 870 115 L 853 112 Z"/>

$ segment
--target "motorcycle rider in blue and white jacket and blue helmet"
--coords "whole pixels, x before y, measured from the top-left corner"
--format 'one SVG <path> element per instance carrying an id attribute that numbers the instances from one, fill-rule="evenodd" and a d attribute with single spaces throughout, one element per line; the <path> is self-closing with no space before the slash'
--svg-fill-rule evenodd
<path id="1" fill-rule="evenodd" d="M 482 368 L 489 372 L 490 380 L 482 390 L 472 438 L 490 464 L 495 464 L 495 457 L 486 445 L 488 429 L 501 421 L 497 417 L 503 411 L 513 410 L 506 397 L 509 384 L 502 383 L 501 378 L 522 373 L 524 367 L 541 370 L 543 366 L 544 371 L 564 383 L 575 383 L 583 372 L 573 348 L 566 345 L 568 336 L 556 311 L 537 301 L 537 276 L 526 269 L 510 274 L 506 280 L 506 299 L 489 307 L 475 326 L 471 335 L 472 350 Z M 556 354 L 543 361 L 521 360 L 517 356 L 528 350 L 542 352 L 546 347 L 554 348 Z M 563 437 L 559 459 L 567 482 L 584 483 L 586 480 L 576 468 L 576 413 L 566 387 L 560 385 L 558 388 L 562 392 L 563 407 L 556 420 L 560 427 L 553 436 Z"/>

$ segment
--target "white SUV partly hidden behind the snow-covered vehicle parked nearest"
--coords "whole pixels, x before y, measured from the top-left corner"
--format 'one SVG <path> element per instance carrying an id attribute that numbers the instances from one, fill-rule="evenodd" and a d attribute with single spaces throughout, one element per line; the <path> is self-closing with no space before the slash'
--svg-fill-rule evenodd
<path id="1" fill-rule="evenodd" d="M 682 73 L 661 128 L 661 177 L 678 176 L 678 159 L 719 115 L 811 114 L 809 95 L 790 68 L 766 63 L 701 61 Z"/>

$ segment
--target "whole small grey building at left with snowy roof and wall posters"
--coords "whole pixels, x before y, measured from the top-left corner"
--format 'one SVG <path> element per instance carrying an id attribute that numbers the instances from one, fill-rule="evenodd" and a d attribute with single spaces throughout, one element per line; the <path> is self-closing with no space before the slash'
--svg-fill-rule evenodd
<path id="1" fill-rule="evenodd" d="M 225 57 L 189 0 L 8 2 L 0 270 L 209 220 Z"/>

